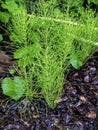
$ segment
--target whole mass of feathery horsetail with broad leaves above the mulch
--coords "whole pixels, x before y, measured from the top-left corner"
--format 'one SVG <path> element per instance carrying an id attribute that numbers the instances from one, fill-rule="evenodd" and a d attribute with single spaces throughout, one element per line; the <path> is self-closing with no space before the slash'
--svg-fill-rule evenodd
<path id="1" fill-rule="evenodd" d="M 55 108 L 70 65 L 78 69 L 98 49 L 98 18 L 92 10 L 83 11 L 77 20 L 54 7 L 55 2 L 42 1 L 37 13 L 28 14 L 25 5 L 18 4 L 10 15 L 17 76 L 5 78 L 2 89 L 12 99 L 37 95 Z"/>

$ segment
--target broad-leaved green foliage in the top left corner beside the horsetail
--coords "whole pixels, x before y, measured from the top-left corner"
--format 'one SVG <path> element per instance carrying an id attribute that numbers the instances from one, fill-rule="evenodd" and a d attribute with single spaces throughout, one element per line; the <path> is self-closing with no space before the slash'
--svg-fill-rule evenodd
<path id="1" fill-rule="evenodd" d="M 5 33 L 6 29 L 4 28 L 7 27 L 6 25 L 9 22 L 11 14 L 18 11 L 19 5 L 24 3 L 23 1 L 24 0 L 0 0 L 0 22 L 2 23 L 0 29 L 3 30 Z M 0 41 L 3 40 L 3 35 L 5 34 L 0 34 Z"/>

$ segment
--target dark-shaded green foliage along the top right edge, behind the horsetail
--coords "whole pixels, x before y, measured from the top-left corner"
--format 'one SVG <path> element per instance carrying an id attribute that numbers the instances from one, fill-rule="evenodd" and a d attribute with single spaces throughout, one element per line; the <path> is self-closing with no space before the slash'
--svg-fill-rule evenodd
<path id="1" fill-rule="evenodd" d="M 81 15 L 82 11 L 94 4 L 98 6 L 98 0 L 57 0 L 58 4 L 62 10 L 62 12 L 68 11 L 70 12 L 71 16 L 79 16 Z"/>

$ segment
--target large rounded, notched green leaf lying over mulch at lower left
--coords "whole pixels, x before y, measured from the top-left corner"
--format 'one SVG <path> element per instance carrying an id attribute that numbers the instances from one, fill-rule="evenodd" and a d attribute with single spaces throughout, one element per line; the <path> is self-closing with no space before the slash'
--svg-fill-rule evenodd
<path id="1" fill-rule="evenodd" d="M 25 92 L 25 81 L 21 77 L 5 78 L 2 81 L 3 93 L 14 100 L 20 99 Z"/>

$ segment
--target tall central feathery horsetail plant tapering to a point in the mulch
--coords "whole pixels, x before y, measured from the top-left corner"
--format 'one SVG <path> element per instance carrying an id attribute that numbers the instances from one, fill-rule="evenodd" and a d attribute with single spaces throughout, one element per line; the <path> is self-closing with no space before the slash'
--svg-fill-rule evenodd
<path id="1" fill-rule="evenodd" d="M 64 25 L 48 20 L 44 22 L 42 51 L 37 60 L 37 86 L 41 87 L 48 105 L 55 108 L 63 89 L 64 71 L 68 71 L 73 39 L 66 39 Z"/>

